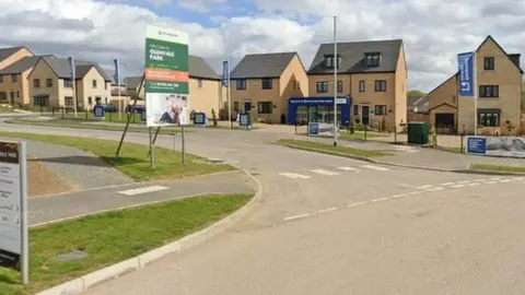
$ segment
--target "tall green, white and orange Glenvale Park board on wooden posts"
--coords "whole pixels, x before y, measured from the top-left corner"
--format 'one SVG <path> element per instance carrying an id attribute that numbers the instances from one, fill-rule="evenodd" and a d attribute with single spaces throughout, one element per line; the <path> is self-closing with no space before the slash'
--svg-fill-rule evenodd
<path id="1" fill-rule="evenodd" d="M 189 125 L 188 34 L 145 28 L 144 91 L 148 127 Z"/>

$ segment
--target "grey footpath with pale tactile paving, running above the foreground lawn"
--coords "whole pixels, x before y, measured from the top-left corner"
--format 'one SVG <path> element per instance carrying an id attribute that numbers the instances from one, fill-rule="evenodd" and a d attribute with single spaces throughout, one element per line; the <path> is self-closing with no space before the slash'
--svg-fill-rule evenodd
<path id="1" fill-rule="evenodd" d="M 243 172 L 185 177 L 175 180 L 135 182 L 28 200 L 30 225 L 93 214 L 158 201 L 212 193 L 255 193 L 253 180 Z"/>

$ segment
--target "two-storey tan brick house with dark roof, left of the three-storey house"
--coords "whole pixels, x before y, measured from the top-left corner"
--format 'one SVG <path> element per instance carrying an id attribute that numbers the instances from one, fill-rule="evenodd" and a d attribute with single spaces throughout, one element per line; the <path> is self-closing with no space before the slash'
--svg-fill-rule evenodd
<path id="1" fill-rule="evenodd" d="M 288 97 L 308 95 L 308 76 L 296 52 L 245 56 L 230 74 L 233 116 L 287 122 Z"/>

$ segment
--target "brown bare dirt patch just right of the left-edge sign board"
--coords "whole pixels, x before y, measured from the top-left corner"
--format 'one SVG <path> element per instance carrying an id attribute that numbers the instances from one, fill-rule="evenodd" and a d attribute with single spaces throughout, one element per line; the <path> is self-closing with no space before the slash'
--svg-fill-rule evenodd
<path id="1" fill-rule="evenodd" d="M 30 197 L 60 193 L 75 190 L 75 186 L 59 174 L 50 172 L 38 161 L 27 161 Z"/>

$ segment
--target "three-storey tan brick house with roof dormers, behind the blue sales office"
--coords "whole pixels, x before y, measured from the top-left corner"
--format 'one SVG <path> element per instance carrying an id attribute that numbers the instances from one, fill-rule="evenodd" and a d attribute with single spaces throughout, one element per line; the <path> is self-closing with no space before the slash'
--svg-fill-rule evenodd
<path id="1" fill-rule="evenodd" d="M 401 131 L 407 122 L 407 64 L 402 40 L 368 40 L 322 44 L 308 70 L 310 95 L 350 96 L 351 119 L 369 118 L 373 128 Z M 329 110 L 325 110 L 329 111 Z"/>

